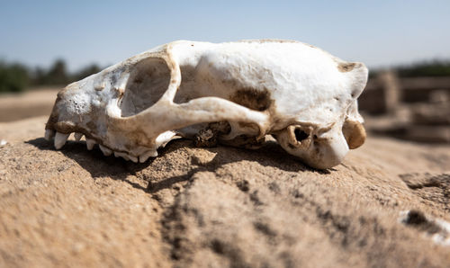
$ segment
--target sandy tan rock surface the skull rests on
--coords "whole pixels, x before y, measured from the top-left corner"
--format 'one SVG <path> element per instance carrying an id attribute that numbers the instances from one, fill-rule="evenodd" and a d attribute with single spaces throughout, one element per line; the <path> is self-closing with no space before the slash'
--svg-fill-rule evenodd
<path id="1" fill-rule="evenodd" d="M 448 146 L 369 137 L 317 171 L 176 140 L 134 164 L 56 151 L 45 121 L 0 123 L 0 267 L 450 266 Z"/>

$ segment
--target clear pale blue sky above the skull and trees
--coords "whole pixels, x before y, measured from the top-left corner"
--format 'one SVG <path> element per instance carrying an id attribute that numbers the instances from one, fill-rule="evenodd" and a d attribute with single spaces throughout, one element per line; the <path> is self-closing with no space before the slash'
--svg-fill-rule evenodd
<path id="1" fill-rule="evenodd" d="M 389 67 L 450 58 L 450 1 L 0 0 L 0 58 L 76 70 L 171 40 L 302 40 Z"/>

